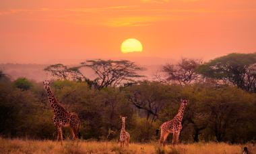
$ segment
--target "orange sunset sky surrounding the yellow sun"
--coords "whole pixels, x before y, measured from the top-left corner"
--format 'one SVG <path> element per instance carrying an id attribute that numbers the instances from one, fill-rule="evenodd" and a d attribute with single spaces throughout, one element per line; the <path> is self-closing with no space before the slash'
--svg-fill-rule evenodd
<path id="1" fill-rule="evenodd" d="M 123 54 L 123 41 L 141 42 Z M 0 64 L 256 52 L 255 0 L 1 0 Z"/>

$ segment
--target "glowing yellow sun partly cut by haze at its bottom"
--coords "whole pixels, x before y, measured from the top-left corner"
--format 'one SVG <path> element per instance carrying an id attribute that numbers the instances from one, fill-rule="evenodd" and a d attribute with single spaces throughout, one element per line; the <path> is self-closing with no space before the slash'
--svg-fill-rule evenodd
<path id="1" fill-rule="evenodd" d="M 121 51 L 123 53 L 128 52 L 142 52 L 142 45 L 136 39 L 127 39 L 123 42 L 121 46 Z"/>

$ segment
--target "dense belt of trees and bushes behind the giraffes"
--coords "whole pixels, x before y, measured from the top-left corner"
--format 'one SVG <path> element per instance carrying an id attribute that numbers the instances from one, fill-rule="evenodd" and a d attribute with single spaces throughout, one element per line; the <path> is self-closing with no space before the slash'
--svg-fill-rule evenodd
<path id="1" fill-rule="evenodd" d="M 55 76 L 49 85 L 55 98 L 82 121 L 82 139 L 106 139 L 113 131 L 110 139 L 118 140 L 123 116 L 131 142 L 156 141 L 156 129 L 173 119 L 187 98 L 180 141 L 245 143 L 256 137 L 255 55 L 229 54 L 204 64 L 181 58 L 162 66 L 158 75 L 164 76 L 155 80 L 141 80 L 145 68 L 127 60 L 93 60 L 70 68 L 55 64 L 44 70 Z M 84 67 L 98 77 L 89 80 Z M 42 82 L 13 80 L 0 69 L 3 137 L 55 139 L 53 115 Z M 64 127 L 63 139 L 71 136 Z"/>

